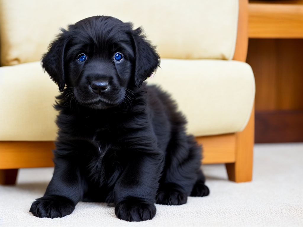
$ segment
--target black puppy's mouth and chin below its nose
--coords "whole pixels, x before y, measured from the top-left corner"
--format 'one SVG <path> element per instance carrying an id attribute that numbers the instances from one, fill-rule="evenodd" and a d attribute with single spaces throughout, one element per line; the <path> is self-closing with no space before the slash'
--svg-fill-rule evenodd
<path id="1" fill-rule="evenodd" d="M 117 107 L 121 104 L 125 97 L 125 91 L 120 89 L 116 94 L 92 94 L 91 92 L 82 92 L 74 88 L 75 98 L 82 106 L 105 110 L 112 107 Z"/>

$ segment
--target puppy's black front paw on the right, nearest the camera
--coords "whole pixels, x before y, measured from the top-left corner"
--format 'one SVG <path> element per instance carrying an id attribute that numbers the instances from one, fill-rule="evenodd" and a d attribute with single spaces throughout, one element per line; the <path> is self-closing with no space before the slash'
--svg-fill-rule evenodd
<path id="1" fill-rule="evenodd" d="M 155 216 L 156 207 L 140 199 L 127 199 L 115 206 L 115 214 L 119 219 L 129 222 L 146 221 Z"/>

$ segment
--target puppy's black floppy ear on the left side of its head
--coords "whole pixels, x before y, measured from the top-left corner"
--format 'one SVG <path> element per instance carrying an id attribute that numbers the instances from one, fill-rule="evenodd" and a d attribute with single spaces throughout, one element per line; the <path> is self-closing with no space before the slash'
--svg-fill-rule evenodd
<path id="1" fill-rule="evenodd" d="M 64 32 L 65 30 L 62 29 Z M 43 69 L 49 74 L 52 81 L 54 81 L 59 90 L 62 91 L 65 87 L 64 77 L 64 49 L 67 43 L 64 33 L 58 36 L 53 41 L 48 49 L 48 52 L 44 54 L 41 59 Z"/>

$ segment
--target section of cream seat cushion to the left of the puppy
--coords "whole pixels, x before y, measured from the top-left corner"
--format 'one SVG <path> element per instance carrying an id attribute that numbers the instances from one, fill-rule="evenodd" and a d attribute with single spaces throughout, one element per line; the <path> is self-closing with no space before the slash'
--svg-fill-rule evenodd
<path id="1" fill-rule="evenodd" d="M 54 140 L 57 85 L 40 62 L 0 67 L 0 140 Z"/>

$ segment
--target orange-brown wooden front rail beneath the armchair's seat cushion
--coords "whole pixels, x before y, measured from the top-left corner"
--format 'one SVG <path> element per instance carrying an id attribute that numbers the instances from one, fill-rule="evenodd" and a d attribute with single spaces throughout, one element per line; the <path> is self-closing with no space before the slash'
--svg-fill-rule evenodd
<path id="1" fill-rule="evenodd" d="M 197 137 L 203 163 L 235 162 L 235 134 Z M 0 141 L 0 169 L 53 166 L 53 142 Z"/>

